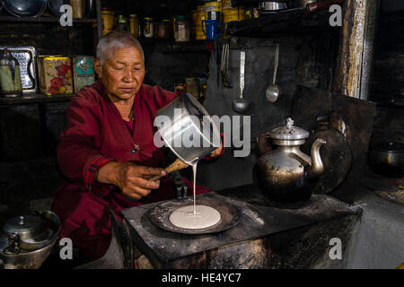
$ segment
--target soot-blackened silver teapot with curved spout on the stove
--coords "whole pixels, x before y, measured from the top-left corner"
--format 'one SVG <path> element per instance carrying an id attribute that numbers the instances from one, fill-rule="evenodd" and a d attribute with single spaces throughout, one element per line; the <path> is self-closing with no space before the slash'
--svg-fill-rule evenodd
<path id="1" fill-rule="evenodd" d="M 312 196 L 309 183 L 324 170 L 320 148 L 326 141 L 318 138 L 312 143 L 309 156 L 300 150 L 309 135 L 303 128 L 294 126 L 290 117 L 286 126 L 268 133 L 277 149 L 259 157 L 255 167 L 258 186 L 265 196 L 282 203 L 299 202 Z"/>

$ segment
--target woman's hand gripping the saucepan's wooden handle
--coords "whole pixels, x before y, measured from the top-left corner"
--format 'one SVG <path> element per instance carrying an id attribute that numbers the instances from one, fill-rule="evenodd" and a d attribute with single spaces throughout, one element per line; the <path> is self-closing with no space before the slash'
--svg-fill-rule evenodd
<path id="1" fill-rule="evenodd" d="M 166 171 L 131 162 L 110 161 L 98 170 L 96 180 L 113 184 L 119 187 L 125 196 L 138 200 L 147 196 L 152 189 L 160 187 L 160 180 L 148 180 L 157 175 L 165 176 Z"/>

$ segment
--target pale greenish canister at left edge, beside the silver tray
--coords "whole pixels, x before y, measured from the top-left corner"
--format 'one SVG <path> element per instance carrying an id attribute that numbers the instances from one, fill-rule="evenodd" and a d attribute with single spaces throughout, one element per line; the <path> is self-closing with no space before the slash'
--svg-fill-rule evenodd
<path id="1" fill-rule="evenodd" d="M 4 49 L 0 60 L 0 86 L 4 97 L 17 97 L 22 94 L 20 64 L 9 49 Z"/>

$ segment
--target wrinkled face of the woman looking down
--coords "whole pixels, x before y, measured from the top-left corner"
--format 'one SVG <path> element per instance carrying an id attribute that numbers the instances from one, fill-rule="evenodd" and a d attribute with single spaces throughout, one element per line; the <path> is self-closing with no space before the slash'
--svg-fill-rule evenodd
<path id="1" fill-rule="evenodd" d="M 133 98 L 145 78 L 145 61 L 137 48 L 117 48 L 103 65 L 98 59 L 94 64 L 112 101 Z"/>

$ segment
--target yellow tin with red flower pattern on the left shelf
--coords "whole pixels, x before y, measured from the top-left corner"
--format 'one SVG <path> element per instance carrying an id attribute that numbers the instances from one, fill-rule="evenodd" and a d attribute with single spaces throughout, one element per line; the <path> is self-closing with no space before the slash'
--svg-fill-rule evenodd
<path id="1" fill-rule="evenodd" d="M 40 56 L 38 67 L 41 93 L 47 96 L 73 93 L 70 57 Z"/>

